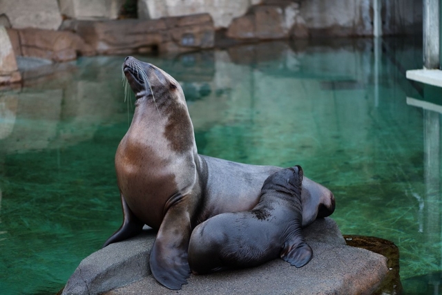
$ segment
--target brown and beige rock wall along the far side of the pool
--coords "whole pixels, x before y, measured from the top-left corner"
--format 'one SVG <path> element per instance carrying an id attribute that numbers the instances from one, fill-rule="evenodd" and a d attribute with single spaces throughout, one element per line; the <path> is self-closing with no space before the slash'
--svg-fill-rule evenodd
<path id="1" fill-rule="evenodd" d="M 372 0 L 138 0 L 139 19 L 117 19 L 124 3 L 0 0 L 0 26 L 7 28 L 7 44 L 16 56 L 55 62 L 79 55 L 180 52 L 217 44 L 373 32 Z M 384 34 L 421 32 L 421 8 L 420 0 L 382 1 Z M 220 34 L 215 35 L 216 30 Z M 0 56 L 10 59 L 7 44 L 1 44 Z M 0 72 L 10 70 L 1 64 Z M 8 81 L 18 81 L 14 75 Z"/>

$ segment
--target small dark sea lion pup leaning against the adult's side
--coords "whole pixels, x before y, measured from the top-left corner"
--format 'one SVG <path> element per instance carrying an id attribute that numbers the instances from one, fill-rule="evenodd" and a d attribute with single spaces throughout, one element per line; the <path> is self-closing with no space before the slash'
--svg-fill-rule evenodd
<path id="1" fill-rule="evenodd" d="M 271 174 L 251 211 L 222 213 L 200 223 L 191 234 L 189 265 L 194 274 L 253 267 L 280 256 L 296 267 L 313 254 L 302 236 L 302 168 Z"/>

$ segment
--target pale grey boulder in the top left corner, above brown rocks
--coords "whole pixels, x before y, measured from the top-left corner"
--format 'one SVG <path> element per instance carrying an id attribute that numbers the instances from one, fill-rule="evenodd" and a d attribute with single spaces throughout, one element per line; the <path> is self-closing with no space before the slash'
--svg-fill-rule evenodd
<path id="1" fill-rule="evenodd" d="M 61 25 L 57 0 L 0 0 L 0 12 L 12 28 L 57 30 Z"/>

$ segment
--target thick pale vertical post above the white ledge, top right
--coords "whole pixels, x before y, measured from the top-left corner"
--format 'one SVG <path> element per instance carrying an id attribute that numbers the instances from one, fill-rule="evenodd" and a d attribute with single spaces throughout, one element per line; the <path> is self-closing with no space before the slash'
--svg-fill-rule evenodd
<path id="1" fill-rule="evenodd" d="M 427 69 L 440 66 L 440 0 L 423 0 L 423 66 Z"/>

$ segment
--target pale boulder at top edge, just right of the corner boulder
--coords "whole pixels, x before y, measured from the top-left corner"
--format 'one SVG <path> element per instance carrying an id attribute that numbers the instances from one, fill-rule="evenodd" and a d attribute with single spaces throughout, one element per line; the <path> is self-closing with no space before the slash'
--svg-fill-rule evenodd
<path id="1" fill-rule="evenodd" d="M 124 0 L 59 0 L 60 11 L 72 19 L 117 19 Z"/>

